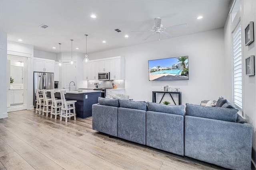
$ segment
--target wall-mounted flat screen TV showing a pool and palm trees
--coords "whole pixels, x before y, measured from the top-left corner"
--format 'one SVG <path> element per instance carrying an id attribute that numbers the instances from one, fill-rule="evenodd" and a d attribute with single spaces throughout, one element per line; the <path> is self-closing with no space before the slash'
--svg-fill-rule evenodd
<path id="1" fill-rule="evenodd" d="M 188 56 L 148 61 L 150 81 L 188 80 Z"/>

